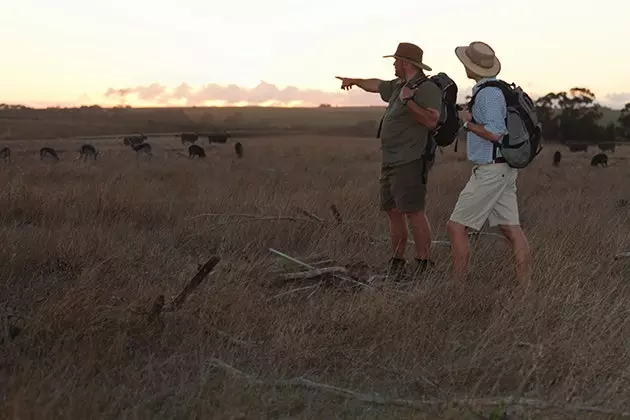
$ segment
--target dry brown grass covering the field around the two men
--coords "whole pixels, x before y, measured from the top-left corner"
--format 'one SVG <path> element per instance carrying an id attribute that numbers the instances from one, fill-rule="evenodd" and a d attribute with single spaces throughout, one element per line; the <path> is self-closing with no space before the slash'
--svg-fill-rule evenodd
<path id="1" fill-rule="evenodd" d="M 184 150 L 174 139 L 152 143 L 151 162 L 104 140 L 101 159 L 84 164 L 67 142 L 54 165 L 36 156 L 43 142 L 13 143 L 14 163 L 0 167 L 0 303 L 23 331 L 0 345 L 3 418 L 479 418 L 248 385 L 212 358 L 257 378 L 304 376 L 392 398 L 514 395 L 630 410 L 630 269 L 612 259 L 630 249 L 628 207 L 615 205 L 629 198 L 630 162 L 591 168 L 590 155 L 574 154 L 552 168 L 549 147 L 521 172 L 534 258 L 522 301 L 509 298 L 509 250 L 493 237 L 474 246 L 471 290 L 449 286 L 449 249 L 436 247 L 436 272 L 405 293 L 327 288 L 270 300 L 288 290 L 269 284 L 270 247 L 385 268 L 389 245 L 356 232 L 387 235 L 377 141 L 245 139 L 243 160 L 228 143 L 206 145 L 209 157 L 194 162 L 169 151 Z M 438 155 L 430 175 L 436 239 L 469 174 L 461 156 Z M 332 220 L 331 203 L 352 227 L 192 218 L 300 217 L 300 206 Z M 213 254 L 222 257 L 214 273 L 164 315 L 161 332 L 148 328 L 138 308 L 176 295 Z"/>

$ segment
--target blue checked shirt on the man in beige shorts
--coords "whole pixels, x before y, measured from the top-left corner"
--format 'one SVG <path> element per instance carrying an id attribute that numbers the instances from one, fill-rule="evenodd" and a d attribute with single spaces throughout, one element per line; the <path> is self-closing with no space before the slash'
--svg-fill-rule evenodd
<path id="1" fill-rule="evenodd" d="M 479 85 L 489 81 L 496 80 L 494 77 L 487 77 L 479 80 L 473 86 L 473 95 L 479 90 Z M 505 118 L 507 117 L 507 106 L 501 89 L 497 87 L 486 87 L 475 98 L 473 104 L 472 116 L 475 123 L 482 125 L 486 130 L 494 134 L 507 134 L 505 126 Z M 466 135 L 466 149 L 468 160 L 475 164 L 483 165 L 492 161 L 493 143 L 482 137 L 479 137 L 472 131 Z M 501 156 L 501 151 L 497 150 L 496 156 Z"/>

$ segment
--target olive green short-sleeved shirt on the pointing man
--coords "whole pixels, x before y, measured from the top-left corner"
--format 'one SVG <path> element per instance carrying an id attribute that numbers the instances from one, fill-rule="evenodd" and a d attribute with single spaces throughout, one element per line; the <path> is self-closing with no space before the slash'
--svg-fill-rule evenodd
<path id="1" fill-rule="evenodd" d="M 414 76 L 409 83 L 426 77 Z M 429 138 L 429 129 L 417 122 L 411 111 L 398 97 L 403 83 L 400 79 L 386 80 L 379 84 L 381 98 L 388 102 L 381 125 L 383 165 L 398 166 L 422 157 Z M 422 83 L 415 90 L 413 101 L 424 107 L 442 111 L 442 90 L 432 81 Z"/>

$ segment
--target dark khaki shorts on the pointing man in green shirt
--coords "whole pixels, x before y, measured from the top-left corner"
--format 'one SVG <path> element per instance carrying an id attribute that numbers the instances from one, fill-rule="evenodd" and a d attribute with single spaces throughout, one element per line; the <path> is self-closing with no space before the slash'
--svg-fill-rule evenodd
<path id="1" fill-rule="evenodd" d="M 427 176 L 433 161 L 424 157 L 399 166 L 381 167 L 381 210 L 403 213 L 423 211 L 427 195 Z"/>

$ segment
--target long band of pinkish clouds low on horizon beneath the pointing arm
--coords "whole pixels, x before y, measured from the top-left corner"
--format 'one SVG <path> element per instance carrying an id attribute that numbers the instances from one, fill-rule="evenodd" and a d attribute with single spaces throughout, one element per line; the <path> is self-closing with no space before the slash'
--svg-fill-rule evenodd
<path id="1" fill-rule="evenodd" d="M 261 81 L 254 88 L 246 88 L 235 84 L 219 85 L 208 83 L 193 88 L 182 83 L 175 88 L 167 88 L 159 83 L 148 86 L 127 88 L 109 88 L 105 97 L 118 101 L 137 100 L 149 105 L 168 105 L 175 102 L 187 106 L 205 105 L 221 102 L 225 105 L 276 105 L 287 106 L 318 106 L 331 104 L 338 106 L 385 106 L 378 94 L 353 88 L 351 91 L 328 92 L 318 89 L 299 89 L 295 86 L 279 88 L 278 86 Z"/>

